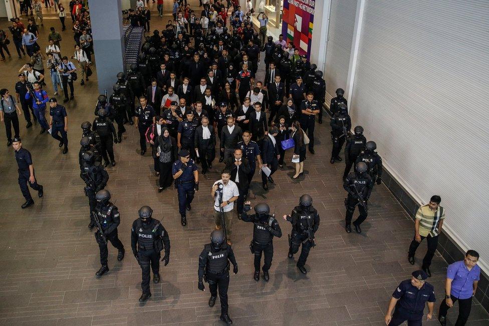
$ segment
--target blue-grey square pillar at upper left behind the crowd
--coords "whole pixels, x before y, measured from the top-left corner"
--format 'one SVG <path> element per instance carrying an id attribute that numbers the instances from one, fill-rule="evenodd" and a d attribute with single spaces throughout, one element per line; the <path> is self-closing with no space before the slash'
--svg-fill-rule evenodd
<path id="1" fill-rule="evenodd" d="M 88 0 L 92 20 L 93 48 L 98 89 L 112 93 L 116 75 L 124 71 L 124 39 L 121 0 Z"/>

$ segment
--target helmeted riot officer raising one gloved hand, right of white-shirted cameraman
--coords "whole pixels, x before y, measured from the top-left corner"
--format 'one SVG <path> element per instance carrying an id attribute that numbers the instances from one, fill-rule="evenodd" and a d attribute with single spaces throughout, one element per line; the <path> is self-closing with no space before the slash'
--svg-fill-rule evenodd
<path id="1" fill-rule="evenodd" d="M 274 236 L 282 237 L 282 230 L 275 219 L 275 216 L 270 215 L 270 207 L 265 203 L 260 203 L 255 206 L 255 214 L 248 215 L 251 207 L 251 202 L 244 203 L 244 211 L 241 213 L 241 220 L 244 222 L 252 222 L 253 240 L 250 243 L 250 250 L 255 254 L 255 281 L 260 280 L 260 262 L 262 260 L 262 252 L 265 255 L 263 265 L 263 278 L 268 282 L 270 275 L 268 270 L 272 266 L 274 257 Z"/>

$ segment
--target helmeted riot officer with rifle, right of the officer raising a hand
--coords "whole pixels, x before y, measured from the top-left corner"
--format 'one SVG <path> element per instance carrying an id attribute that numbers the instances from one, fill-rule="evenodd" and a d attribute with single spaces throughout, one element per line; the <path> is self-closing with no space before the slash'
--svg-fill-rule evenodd
<path id="1" fill-rule="evenodd" d="M 316 246 L 314 234 L 319 229 L 319 214 L 313 207 L 313 198 L 304 194 L 299 199 L 299 206 L 294 207 L 291 215 L 284 215 L 284 220 L 292 224 L 292 234 L 289 236 L 289 258 L 299 251 L 302 243 L 301 255 L 297 261 L 297 268 L 301 273 L 306 274 L 304 267 L 309 251 Z"/>

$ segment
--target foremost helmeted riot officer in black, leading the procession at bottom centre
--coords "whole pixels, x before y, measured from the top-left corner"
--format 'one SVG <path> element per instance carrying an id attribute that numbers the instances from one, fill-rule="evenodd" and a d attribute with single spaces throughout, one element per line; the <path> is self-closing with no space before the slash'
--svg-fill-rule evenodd
<path id="1" fill-rule="evenodd" d="M 198 289 L 204 290 L 205 280 L 209 283 L 210 299 L 209 306 L 213 307 L 219 290 L 221 302 L 220 319 L 225 323 L 232 324 L 227 312 L 227 288 L 229 287 L 229 262 L 234 266 L 232 272 L 237 274 L 237 263 L 231 246 L 224 242 L 224 232 L 214 230 L 210 234 L 210 243 L 204 246 L 199 255 L 198 267 Z"/>

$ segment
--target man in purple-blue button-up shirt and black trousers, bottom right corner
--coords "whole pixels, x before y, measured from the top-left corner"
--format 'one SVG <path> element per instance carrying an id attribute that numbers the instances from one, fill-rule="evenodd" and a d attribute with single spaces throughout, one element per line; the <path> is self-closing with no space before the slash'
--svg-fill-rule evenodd
<path id="1" fill-rule="evenodd" d="M 446 269 L 445 299 L 440 304 L 438 321 L 446 325 L 446 312 L 458 300 L 458 318 L 455 326 L 463 326 L 467 322 L 480 278 L 480 267 L 477 266 L 479 254 L 468 250 L 465 259 L 448 265 Z"/>

